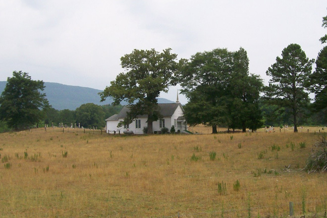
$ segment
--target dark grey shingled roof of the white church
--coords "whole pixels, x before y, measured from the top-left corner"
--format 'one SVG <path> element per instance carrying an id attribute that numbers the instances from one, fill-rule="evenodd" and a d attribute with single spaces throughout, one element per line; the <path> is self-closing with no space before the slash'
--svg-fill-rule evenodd
<path id="1" fill-rule="evenodd" d="M 158 104 L 158 106 L 160 107 L 160 113 L 163 116 L 172 116 L 172 114 L 175 112 L 175 110 L 179 105 L 180 103 Z M 184 111 L 183 107 L 182 110 Z M 106 120 L 116 120 L 117 118 L 125 118 L 127 111 L 129 111 L 129 108 L 127 106 L 124 106 L 118 114 L 115 114 L 116 115 L 115 117 L 113 117 L 114 115 L 112 115 Z M 138 118 L 142 118 L 142 117 L 148 117 L 148 115 L 143 114 L 138 116 Z"/>

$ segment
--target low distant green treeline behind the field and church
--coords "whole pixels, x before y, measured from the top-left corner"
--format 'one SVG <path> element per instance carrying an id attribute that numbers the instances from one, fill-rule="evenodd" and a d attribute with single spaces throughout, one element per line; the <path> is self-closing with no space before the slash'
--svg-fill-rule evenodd
<path id="1" fill-rule="evenodd" d="M 292 125 L 290 121 L 289 109 L 281 108 L 277 106 L 264 104 L 263 101 L 259 101 L 261 114 L 263 116 L 264 126 L 278 126 Z M 123 106 L 104 105 L 98 106 L 93 103 L 81 105 L 76 110 L 56 110 L 53 108 L 44 111 L 45 118 L 38 124 L 39 127 L 43 127 L 45 124 L 48 126 L 59 126 L 60 124 L 70 126 L 75 124 L 84 128 L 97 127 L 103 128 L 106 125 L 105 119 L 113 114 L 119 113 Z M 327 120 L 324 115 L 324 111 L 311 112 L 307 110 L 305 113 L 300 114 L 299 125 L 303 126 L 324 126 Z M 4 122 L 0 121 L 0 132 L 10 131 Z"/>

